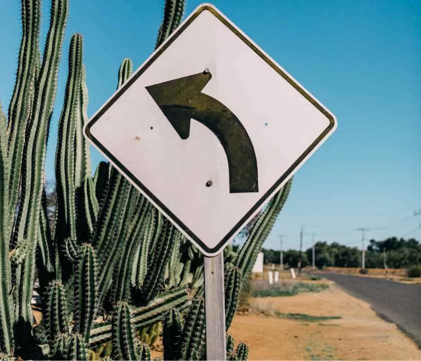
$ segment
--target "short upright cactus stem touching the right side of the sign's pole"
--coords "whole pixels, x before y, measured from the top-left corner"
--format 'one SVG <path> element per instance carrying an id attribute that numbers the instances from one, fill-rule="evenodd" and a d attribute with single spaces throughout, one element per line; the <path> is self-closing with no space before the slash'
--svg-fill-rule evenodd
<path id="1" fill-rule="evenodd" d="M 237 310 L 238 295 L 241 289 L 242 273 L 240 268 L 229 263 L 225 268 L 225 327 L 230 328 Z"/>

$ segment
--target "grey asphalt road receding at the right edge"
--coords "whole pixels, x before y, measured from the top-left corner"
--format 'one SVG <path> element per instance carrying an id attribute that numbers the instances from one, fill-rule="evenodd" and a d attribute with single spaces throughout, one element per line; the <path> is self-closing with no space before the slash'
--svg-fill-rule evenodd
<path id="1" fill-rule="evenodd" d="M 351 295 L 368 302 L 375 312 L 395 323 L 421 347 L 421 284 L 323 272 Z"/>

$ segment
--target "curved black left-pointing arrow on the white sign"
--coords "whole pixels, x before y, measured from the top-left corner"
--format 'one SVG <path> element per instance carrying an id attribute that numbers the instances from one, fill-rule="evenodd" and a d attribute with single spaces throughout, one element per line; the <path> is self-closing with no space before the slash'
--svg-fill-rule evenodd
<path id="1" fill-rule="evenodd" d="M 230 109 L 201 93 L 210 78 L 212 74 L 205 70 L 146 90 L 181 139 L 189 136 L 191 118 L 218 137 L 228 158 L 230 193 L 259 192 L 256 153 L 249 134 Z"/>

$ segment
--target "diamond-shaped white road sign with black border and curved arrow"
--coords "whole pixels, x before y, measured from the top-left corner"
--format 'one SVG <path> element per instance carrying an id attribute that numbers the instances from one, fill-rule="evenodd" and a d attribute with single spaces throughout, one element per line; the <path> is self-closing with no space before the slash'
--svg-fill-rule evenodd
<path id="1" fill-rule="evenodd" d="M 335 128 L 332 113 L 204 4 L 84 131 L 180 231 L 214 256 Z"/>

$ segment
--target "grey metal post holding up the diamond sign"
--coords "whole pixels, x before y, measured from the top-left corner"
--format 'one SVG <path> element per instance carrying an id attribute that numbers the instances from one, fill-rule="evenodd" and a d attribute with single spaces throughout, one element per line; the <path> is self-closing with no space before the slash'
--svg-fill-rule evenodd
<path id="1" fill-rule="evenodd" d="M 226 360 L 224 252 L 203 258 L 206 359 Z"/>

